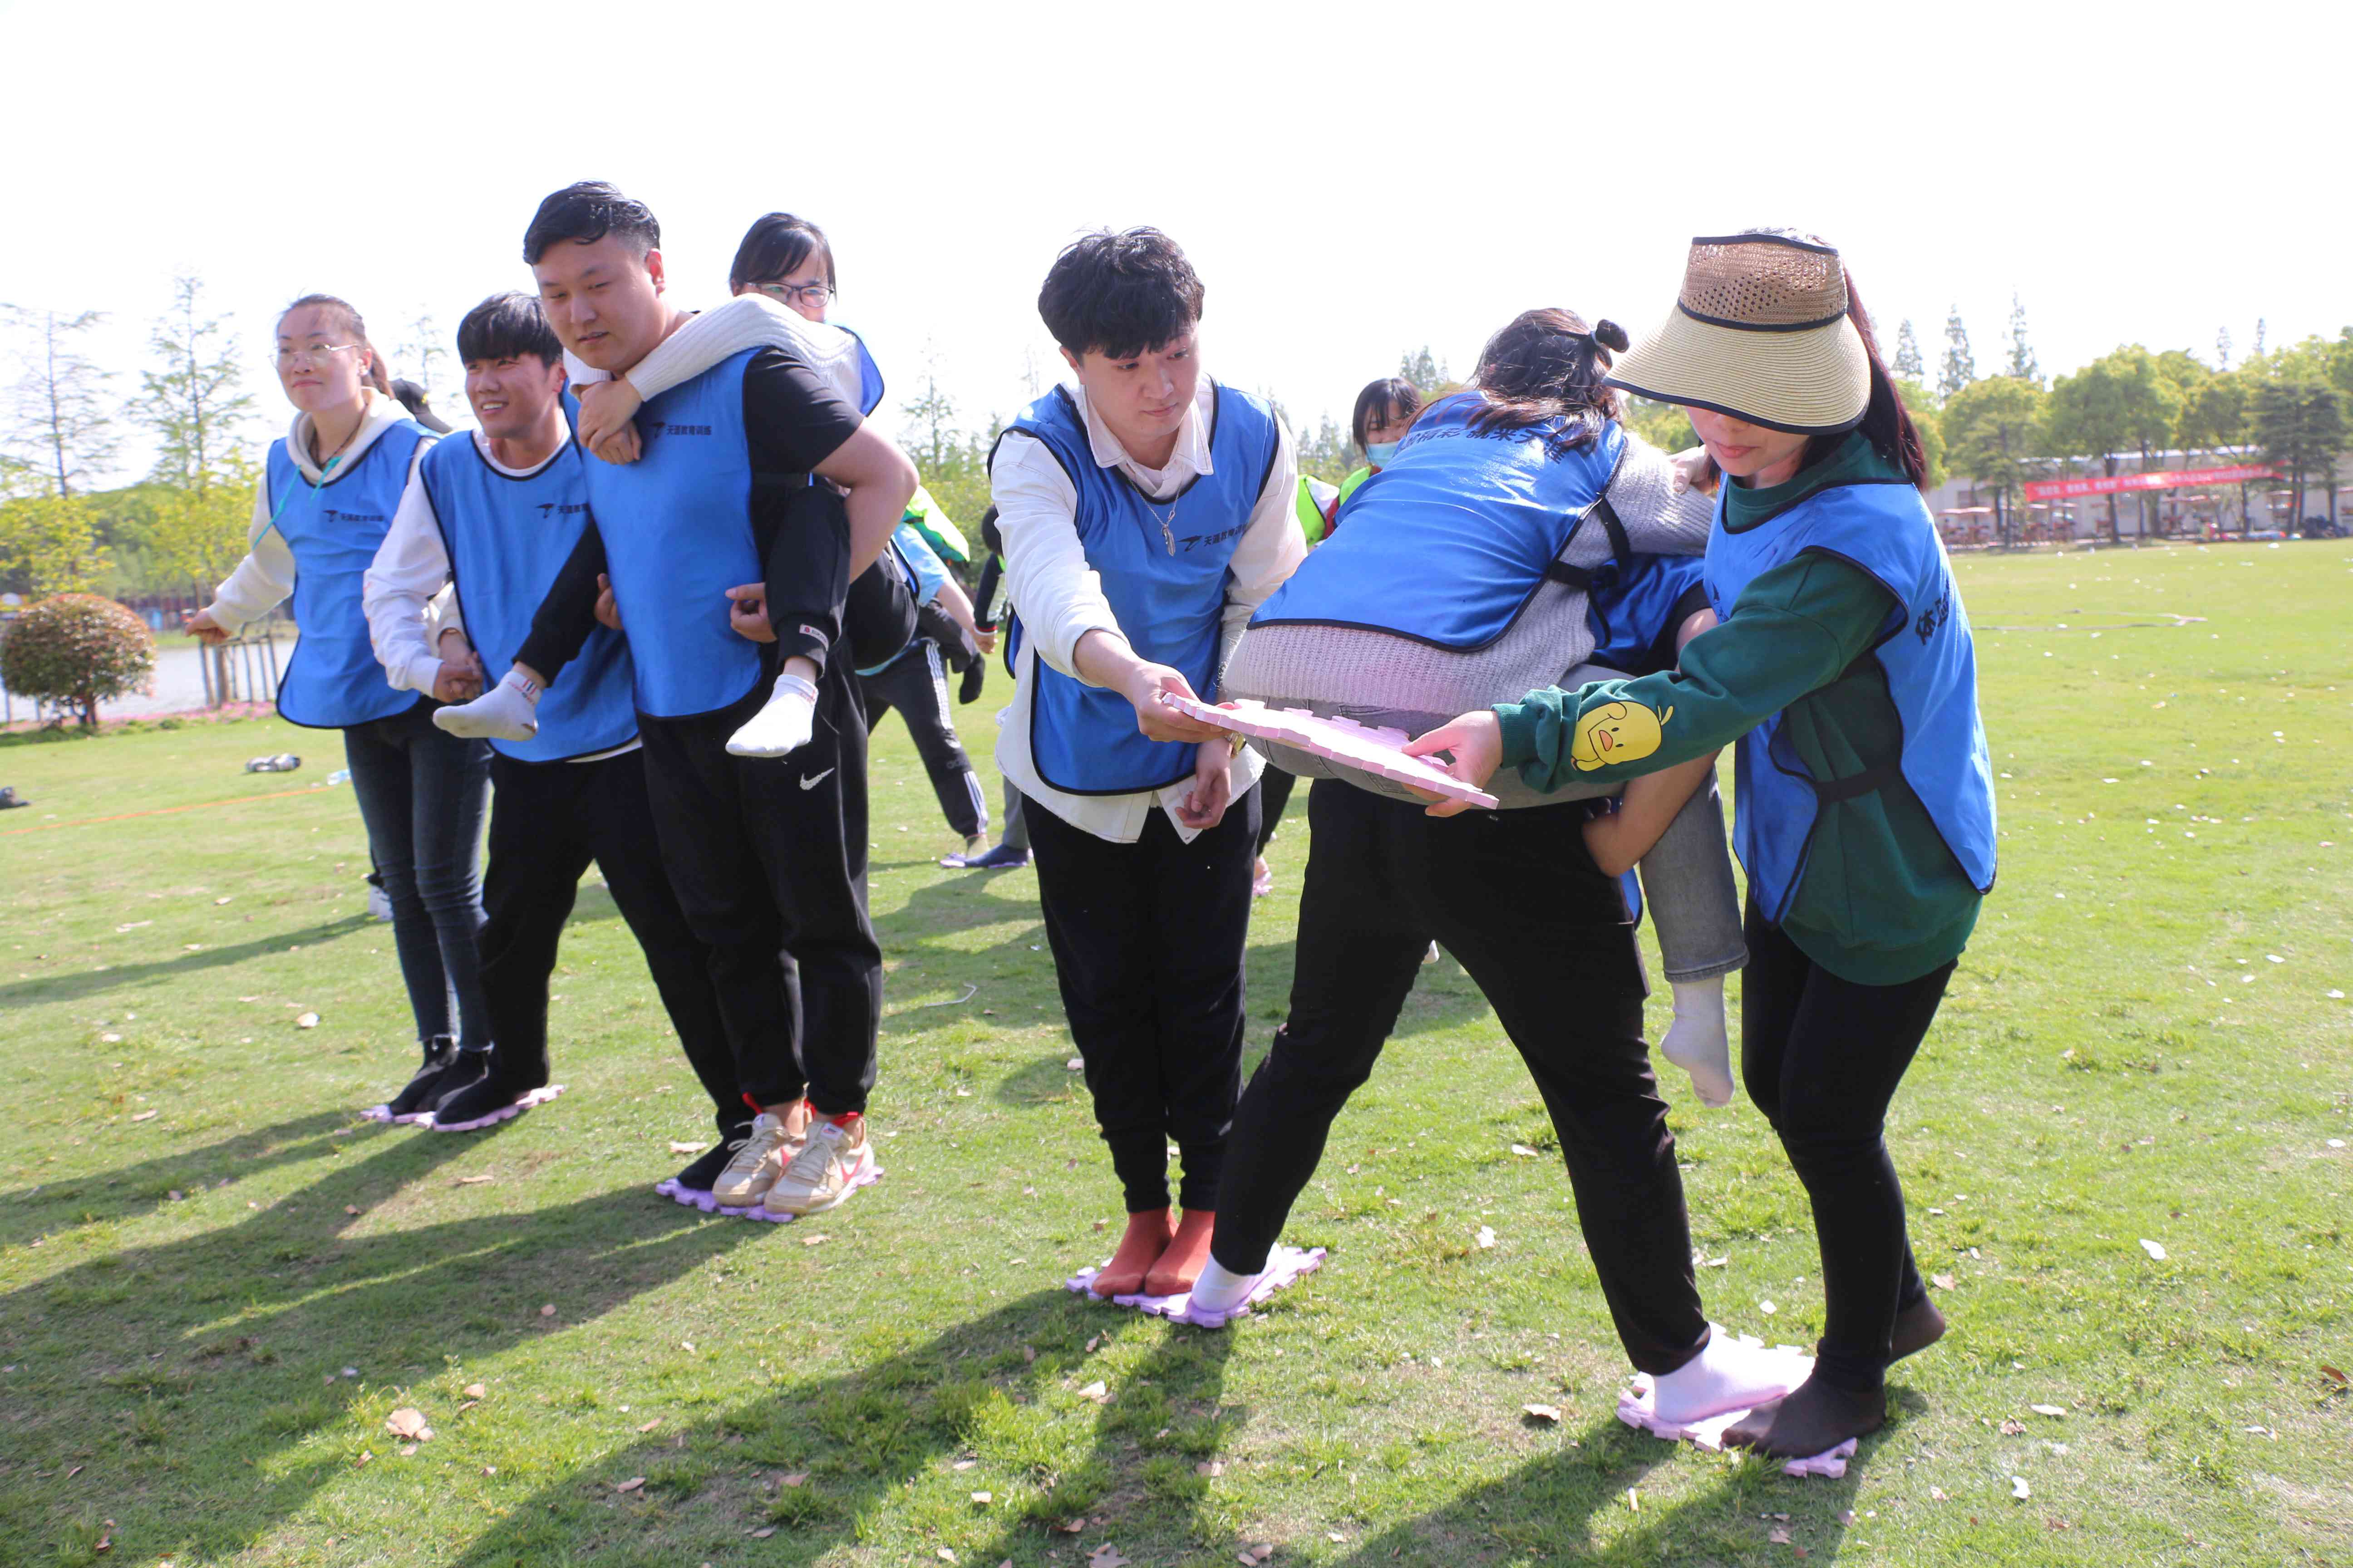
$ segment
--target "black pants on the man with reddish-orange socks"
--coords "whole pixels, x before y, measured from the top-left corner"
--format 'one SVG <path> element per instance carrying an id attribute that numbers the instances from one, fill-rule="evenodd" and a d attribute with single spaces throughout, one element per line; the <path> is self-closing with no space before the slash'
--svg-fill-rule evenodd
<path id="1" fill-rule="evenodd" d="M 1033 799 L 1021 802 L 1021 820 L 1061 1006 L 1127 1213 L 1167 1208 L 1169 1143 L 1184 1159 L 1176 1201 L 1217 1208 L 1242 1086 L 1259 792 L 1226 806 L 1191 844 L 1160 806 L 1134 844 L 1099 839 Z"/>

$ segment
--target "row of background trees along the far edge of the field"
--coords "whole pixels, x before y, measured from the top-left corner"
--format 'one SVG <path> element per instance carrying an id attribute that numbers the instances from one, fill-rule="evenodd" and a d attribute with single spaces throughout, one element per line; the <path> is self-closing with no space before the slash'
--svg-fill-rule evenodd
<path id="1" fill-rule="evenodd" d="M 99 313 L 5 310 L 19 376 L 0 425 L 0 590 L 26 597 L 106 592 L 113 597 L 200 599 L 245 555 L 254 484 L 261 475 L 261 411 L 245 383 L 245 353 L 226 317 L 212 315 L 205 284 L 181 275 L 169 308 L 148 331 L 136 388 L 99 367 L 87 334 Z M 402 374 L 433 390 L 449 350 L 431 317 L 409 324 L 395 350 Z M 2231 334 L 2212 362 L 2188 350 L 2151 353 L 2139 343 L 2045 378 L 2028 343 L 2026 310 L 2012 301 L 2000 367 L 1979 374 L 1960 313 L 1944 327 L 1934 376 L 1911 322 L 1897 329 L 1889 369 L 1927 447 L 1932 482 L 1960 475 L 1995 505 L 1998 536 L 2019 538 L 2019 491 L 2028 480 L 2120 473 L 2162 451 L 2259 454 L 2289 487 L 2294 517 L 2327 494 L 2337 517 L 2337 458 L 2353 437 L 2353 327 L 2334 339 L 2266 348 L 2257 322 L 2252 353 L 2233 364 Z M 1452 390 L 1447 364 L 1428 346 L 1400 355 L 1398 374 L 1438 395 Z M 1026 376 L 1040 390 L 1035 369 Z M 1280 409 L 1280 400 L 1273 400 Z M 901 437 L 939 505 L 967 529 L 988 508 L 988 451 L 1002 430 L 960 421 L 927 357 L 915 395 L 901 402 Z M 1666 404 L 1633 400 L 1628 423 L 1654 444 L 1694 444 L 1689 423 Z M 101 489 L 122 435 L 141 433 L 155 463 L 134 484 Z M 1339 482 L 1360 461 L 1348 428 L 1322 414 L 1292 423 L 1299 465 Z M 2139 498 L 2146 508 L 2146 496 Z M 2111 538 L 2118 501 L 2106 498 Z M 2146 512 L 2144 512 L 2146 531 Z"/>

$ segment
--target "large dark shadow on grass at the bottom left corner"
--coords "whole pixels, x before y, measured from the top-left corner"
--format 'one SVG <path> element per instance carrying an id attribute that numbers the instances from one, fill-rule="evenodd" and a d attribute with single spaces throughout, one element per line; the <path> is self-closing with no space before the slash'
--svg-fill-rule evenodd
<path id="1" fill-rule="evenodd" d="M 628 1190 L 372 1234 L 379 1211 L 398 1220 L 405 1190 L 515 1124 L 386 1131 L 372 1147 L 304 1126 L 278 1128 L 285 1147 L 266 1157 L 325 1164 L 308 1187 L 0 1298 L 19 1410 L 0 1533 L 47 1540 L 104 1488 L 106 1512 L 141 1549 L 231 1556 L 348 1472 L 344 1443 L 306 1446 L 348 1406 L 424 1382 L 452 1356 L 579 1331 L 765 1232 Z M 501 1182 L 485 1192 L 527 1175 Z M 562 1312 L 544 1319 L 551 1298 Z M 360 1375 L 344 1378 L 344 1366 Z M 75 1465 L 89 1474 L 68 1486 Z"/>

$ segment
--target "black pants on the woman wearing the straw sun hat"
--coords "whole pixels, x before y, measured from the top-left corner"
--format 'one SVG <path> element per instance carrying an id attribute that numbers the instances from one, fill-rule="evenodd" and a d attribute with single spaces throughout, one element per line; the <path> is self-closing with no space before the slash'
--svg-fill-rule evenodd
<path id="1" fill-rule="evenodd" d="M 1755 900 L 1744 936 L 1741 1081 L 1805 1182 L 1821 1244 L 1824 1333 L 1814 1375 L 1871 1392 L 1887 1371 L 1897 1312 L 1927 1295 L 1904 1239 L 1887 1103 L 1937 1018 L 1953 966 L 1904 985 L 1840 980 L 1767 922 Z"/>

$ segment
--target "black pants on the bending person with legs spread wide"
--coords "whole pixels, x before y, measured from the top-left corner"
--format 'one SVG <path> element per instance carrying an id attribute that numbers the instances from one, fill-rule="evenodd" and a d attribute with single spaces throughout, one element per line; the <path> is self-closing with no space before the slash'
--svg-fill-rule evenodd
<path id="1" fill-rule="evenodd" d="M 1217 1208 L 1217 1260 L 1266 1253 L 1372 1074 L 1431 938 L 1494 1004 L 1553 1117 L 1609 1316 L 1638 1371 L 1708 1342 L 1675 1135 L 1642 1041 L 1642 969 L 1617 882 L 1574 804 L 1431 818 L 1339 780 L 1308 790 L 1289 1023 L 1242 1091 Z M 1435 1112 L 1445 1117 L 1447 1112 Z"/>

